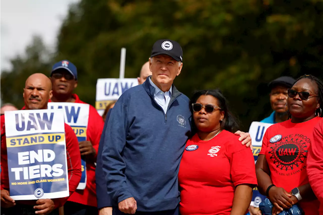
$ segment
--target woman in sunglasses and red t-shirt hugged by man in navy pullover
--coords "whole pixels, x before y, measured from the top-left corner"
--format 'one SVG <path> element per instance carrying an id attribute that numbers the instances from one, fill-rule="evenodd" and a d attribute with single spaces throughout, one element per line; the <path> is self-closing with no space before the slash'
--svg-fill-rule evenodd
<path id="1" fill-rule="evenodd" d="M 196 134 L 187 141 L 179 170 L 182 215 L 246 213 L 257 185 L 250 148 L 219 90 L 203 90 L 191 100 Z"/>

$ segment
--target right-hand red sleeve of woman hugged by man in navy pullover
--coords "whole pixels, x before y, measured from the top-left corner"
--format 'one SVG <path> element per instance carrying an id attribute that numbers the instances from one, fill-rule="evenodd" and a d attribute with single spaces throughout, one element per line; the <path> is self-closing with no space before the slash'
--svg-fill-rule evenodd
<path id="1" fill-rule="evenodd" d="M 229 160 L 231 164 L 231 179 L 234 186 L 252 184 L 257 186 L 255 159 L 250 148 L 241 145 L 238 137 L 228 144 Z"/>

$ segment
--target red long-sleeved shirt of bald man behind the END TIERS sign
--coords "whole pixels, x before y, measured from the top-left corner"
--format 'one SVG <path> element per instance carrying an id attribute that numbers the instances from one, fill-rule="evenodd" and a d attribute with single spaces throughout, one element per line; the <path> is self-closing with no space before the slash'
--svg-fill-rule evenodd
<path id="1" fill-rule="evenodd" d="M 5 116 L 0 116 L 0 163 L 1 163 L 1 174 L 0 174 L 0 190 L 9 190 L 9 178 L 8 178 L 8 157 L 7 157 L 7 145 L 5 136 Z M 68 187 L 69 195 L 71 195 L 81 180 L 81 156 L 78 152 L 78 138 L 76 137 L 73 129 L 65 124 L 65 141 L 66 141 L 66 155 L 67 155 L 67 168 L 68 168 Z M 10 190 L 9 190 L 10 191 Z M 61 207 L 68 200 L 68 197 L 53 199 L 55 208 Z M 19 201 L 22 204 L 36 205 L 35 200 L 30 201 Z"/>

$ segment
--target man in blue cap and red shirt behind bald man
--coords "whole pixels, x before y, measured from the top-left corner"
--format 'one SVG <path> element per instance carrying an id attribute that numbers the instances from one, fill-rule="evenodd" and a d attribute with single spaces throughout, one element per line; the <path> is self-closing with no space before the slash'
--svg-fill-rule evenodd
<path id="1" fill-rule="evenodd" d="M 53 86 L 52 102 L 85 103 L 73 90 L 78 86 L 77 68 L 68 60 L 57 62 L 52 69 L 50 79 Z M 84 190 L 76 190 L 64 205 L 68 215 L 97 214 L 97 198 L 95 185 L 95 164 L 99 141 L 104 122 L 97 110 L 90 105 L 87 127 L 87 140 L 79 142 L 81 156 L 86 160 L 87 184 Z"/>

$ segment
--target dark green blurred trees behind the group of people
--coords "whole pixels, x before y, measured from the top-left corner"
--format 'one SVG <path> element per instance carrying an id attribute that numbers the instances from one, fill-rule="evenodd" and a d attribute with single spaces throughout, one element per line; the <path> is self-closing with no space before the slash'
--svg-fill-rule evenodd
<path id="1" fill-rule="evenodd" d="M 30 74 L 49 74 L 68 59 L 78 67 L 76 93 L 94 105 L 96 80 L 118 78 L 120 48 L 127 48 L 125 77 L 137 77 L 158 39 L 183 48 L 176 87 L 219 87 L 247 130 L 271 113 L 267 84 L 282 75 L 323 78 L 321 0 L 80 0 L 70 5 L 54 53 L 35 37 L 24 56 L 11 60 L 0 80 L 4 102 L 23 106 Z"/>

